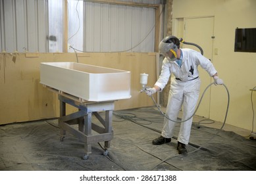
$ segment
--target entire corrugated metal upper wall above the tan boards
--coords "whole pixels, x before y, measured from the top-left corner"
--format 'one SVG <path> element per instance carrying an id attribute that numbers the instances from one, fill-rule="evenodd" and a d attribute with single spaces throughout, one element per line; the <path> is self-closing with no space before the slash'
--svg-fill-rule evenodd
<path id="1" fill-rule="evenodd" d="M 159 0 L 126 2 L 161 3 Z M 0 0 L 0 51 L 62 52 L 63 25 L 59 24 L 63 23 L 63 12 L 54 6 L 63 6 L 63 0 Z M 68 43 L 76 49 L 154 52 L 153 7 L 70 0 L 68 18 Z M 51 35 L 54 39 L 49 39 Z"/>

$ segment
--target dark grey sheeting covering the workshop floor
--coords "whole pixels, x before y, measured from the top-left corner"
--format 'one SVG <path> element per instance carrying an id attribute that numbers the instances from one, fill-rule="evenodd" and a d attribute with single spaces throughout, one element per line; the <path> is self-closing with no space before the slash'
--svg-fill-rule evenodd
<path id="1" fill-rule="evenodd" d="M 109 154 L 104 156 L 104 143 L 98 143 L 88 160 L 82 159 L 84 143 L 76 137 L 67 133 L 63 142 L 59 140 L 57 120 L 0 126 L 0 170 L 256 170 L 255 141 L 197 125 L 192 126 L 188 155 L 181 156 L 175 136 L 165 145 L 151 144 L 163 126 L 163 115 L 155 108 L 118 110 L 113 115 Z M 178 130 L 177 124 L 174 135 Z"/>

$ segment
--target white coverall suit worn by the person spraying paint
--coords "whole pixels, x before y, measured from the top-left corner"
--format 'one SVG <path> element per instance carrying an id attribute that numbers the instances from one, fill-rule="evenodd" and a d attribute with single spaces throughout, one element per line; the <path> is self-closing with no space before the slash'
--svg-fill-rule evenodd
<path id="1" fill-rule="evenodd" d="M 196 108 L 197 100 L 199 98 L 200 79 L 197 66 L 207 71 L 210 76 L 217 73 L 211 61 L 201 53 L 193 51 L 192 49 L 181 49 L 182 52 L 182 66 L 180 67 L 176 61 L 163 60 L 161 75 L 155 83 L 163 90 L 171 74 L 170 91 L 168 95 L 168 104 L 166 107 L 166 116 L 171 120 L 177 120 L 178 113 L 183 104 L 182 121 L 190 118 Z M 161 135 L 165 138 L 171 138 L 176 122 L 172 122 L 165 118 L 164 126 Z M 190 130 L 193 118 L 186 122 L 180 123 L 180 132 L 178 134 L 178 141 L 180 143 L 188 144 L 190 139 Z"/>

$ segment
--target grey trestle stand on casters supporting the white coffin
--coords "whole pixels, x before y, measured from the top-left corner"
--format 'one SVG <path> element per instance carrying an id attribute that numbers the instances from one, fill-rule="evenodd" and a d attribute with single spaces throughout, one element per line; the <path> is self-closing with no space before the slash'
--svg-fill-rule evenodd
<path id="1" fill-rule="evenodd" d="M 61 127 L 61 141 L 64 140 L 64 135 L 66 131 L 72 133 L 72 135 L 78 137 L 80 141 L 84 141 L 84 156 L 83 158 L 88 159 L 89 154 L 91 154 L 91 145 L 93 143 L 99 143 L 101 141 L 105 142 L 104 155 L 108 154 L 108 149 L 110 148 L 111 139 L 113 138 L 112 130 L 112 116 L 114 109 L 114 101 L 111 102 L 81 102 L 74 101 L 74 99 L 69 99 L 68 97 L 63 97 L 59 95 L 60 100 L 60 118 L 59 126 Z M 66 103 L 71 104 L 78 108 L 78 112 L 66 115 Z M 99 115 L 99 111 L 105 111 L 105 120 Z M 94 124 L 91 120 L 91 116 L 95 115 L 97 120 L 103 126 Z M 78 124 L 78 129 L 70 126 L 72 124 Z M 97 132 L 93 135 L 91 130 Z"/>

